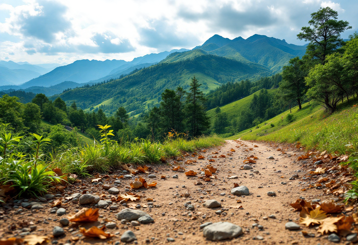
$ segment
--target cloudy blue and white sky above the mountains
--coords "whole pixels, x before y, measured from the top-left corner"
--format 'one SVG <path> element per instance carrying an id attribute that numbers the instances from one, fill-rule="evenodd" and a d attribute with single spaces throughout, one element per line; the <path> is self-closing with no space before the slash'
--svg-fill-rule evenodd
<path id="1" fill-rule="evenodd" d="M 1 0 L 0 60 L 71 63 L 191 49 L 214 34 L 297 40 L 310 14 L 330 6 L 358 28 L 358 1 L 322 0 Z"/>

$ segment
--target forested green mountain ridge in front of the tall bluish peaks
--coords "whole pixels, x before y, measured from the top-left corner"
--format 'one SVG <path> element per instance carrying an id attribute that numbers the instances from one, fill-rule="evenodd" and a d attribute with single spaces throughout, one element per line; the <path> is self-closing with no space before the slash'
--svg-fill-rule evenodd
<path id="1" fill-rule="evenodd" d="M 161 62 L 120 80 L 96 87 L 73 89 L 62 93 L 60 97 L 68 103 L 76 101 L 82 108 L 96 106 L 112 99 L 104 108 L 109 114 L 118 106 L 125 106 L 127 111 L 140 112 L 148 106 L 146 101 L 158 101 L 158 97 L 166 88 L 188 88 L 189 81 L 194 75 L 203 83 L 204 91 L 228 81 L 271 75 L 268 68 L 259 64 L 240 62 L 203 52 L 195 52 L 197 55 L 183 60 L 180 58 L 183 53 L 176 53 L 170 56 L 176 62 Z"/>

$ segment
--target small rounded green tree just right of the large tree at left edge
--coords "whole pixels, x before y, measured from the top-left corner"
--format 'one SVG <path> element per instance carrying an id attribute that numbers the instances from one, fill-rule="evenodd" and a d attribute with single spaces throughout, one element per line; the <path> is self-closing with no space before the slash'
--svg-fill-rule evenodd
<path id="1" fill-rule="evenodd" d="M 29 132 L 35 133 L 38 131 L 41 124 L 40 107 L 34 103 L 27 103 L 24 106 L 23 119 Z"/>

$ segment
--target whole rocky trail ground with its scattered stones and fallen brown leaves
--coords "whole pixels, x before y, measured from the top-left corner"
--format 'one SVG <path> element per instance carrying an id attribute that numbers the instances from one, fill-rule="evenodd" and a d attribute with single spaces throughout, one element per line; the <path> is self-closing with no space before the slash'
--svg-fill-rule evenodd
<path id="1" fill-rule="evenodd" d="M 351 237 L 334 233 L 317 235 L 316 229 L 299 224 L 300 213 L 290 206 L 297 199 L 311 203 L 341 202 L 344 186 L 325 187 L 317 184 L 318 179 L 326 178 L 327 182 L 340 178 L 336 183 L 343 184 L 350 180 L 349 174 L 334 168 L 310 174 L 315 165 L 334 161 L 298 160 L 305 154 L 301 149 L 280 147 L 227 140 L 223 146 L 198 151 L 196 155 L 148 165 L 149 173 L 131 175 L 130 170 L 115 170 L 108 176 L 81 179 L 67 186 L 64 193 L 9 200 L 0 207 L 0 237 L 45 236 L 49 243 L 67 245 L 213 244 L 214 241 L 323 245 L 357 240 L 353 231 Z M 217 169 L 211 177 L 204 176 L 208 164 Z M 181 166 L 179 171 L 172 170 L 177 166 Z M 197 174 L 187 176 L 185 172 L 189 170 Z M 139 177 L 157 184 L 130 190 L 130 184 Z M 118 194 L 126 192 L 140 199 L 120 201 Z M 98 208 L 97 221 L 70 221 L 74 213 L 90 207 Z M 343 210 L 347 215 L 350 212 L 355 212 L 355 206 Z M 111 235 L 102 239 L 84 235 L 83 228 L 93 226 Z"/>

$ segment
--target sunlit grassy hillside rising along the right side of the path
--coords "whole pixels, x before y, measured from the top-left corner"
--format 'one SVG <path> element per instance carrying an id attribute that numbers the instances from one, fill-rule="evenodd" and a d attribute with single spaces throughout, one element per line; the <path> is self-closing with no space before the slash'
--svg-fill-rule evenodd
<path id="1" fill-rule="evenodd" d="M 242 131 L 229 139 L 263 140 L 277 143 L 300 142 L 307 149 L 327 150 L 335 154 L 353 154 L 358 152 L 358 109 L 356 99 L 340 104 L 332 115 L 329 115 L 316 103 L 305 103 L 299 111 L 292 109 L 293 122 L 287 121 L 290 111 L 251 128 Z M 281 117 L 283 120 L 281 120 Z M 272 127 L 271 124 L 274 126 Z M 252 130 L 252 132 L 250 132 Z"/>

